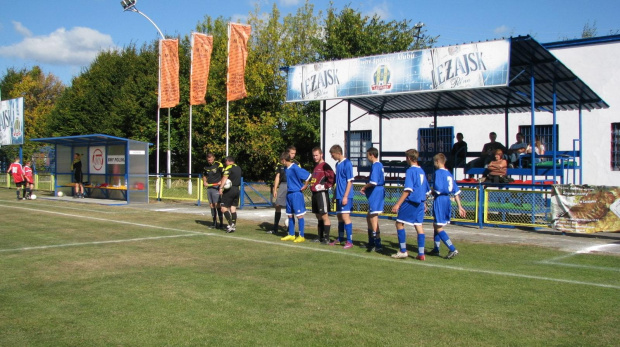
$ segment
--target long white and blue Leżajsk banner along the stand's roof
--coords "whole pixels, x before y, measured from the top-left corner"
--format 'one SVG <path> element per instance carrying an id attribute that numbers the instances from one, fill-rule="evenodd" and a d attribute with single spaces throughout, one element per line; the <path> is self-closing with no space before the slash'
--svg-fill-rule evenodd
<path id="1" fill-rule="evenodd" d="M 490 88 L 508 85 L 510 40 L 297 65 L 286 101 Z"/>

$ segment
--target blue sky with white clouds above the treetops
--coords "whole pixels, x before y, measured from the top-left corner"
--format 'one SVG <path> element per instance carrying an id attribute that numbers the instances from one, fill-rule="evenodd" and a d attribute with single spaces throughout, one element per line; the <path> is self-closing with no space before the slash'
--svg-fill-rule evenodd
<path id="1" fill-rule="evenodd" d="M 136 7 L 166 36 L 185 36 L 205 16 L 244 23 L 258 6 L 283 15 L 304 0 L 138 0 Z M 312 0 L 315 13 L 330 0 Z M 332 0 L 338 10 L 355 10 L 386 21 L 422 22 L 426 35 L 439 36 L 437 46 L 531 35 L 538 42 L 581 37 L 585 25 L 598 36 L 620 30 L 620 0 Z M 123 12 L 120 0 L 0 0 L 0 78 L 8 68 L 38 65 L 63 83 L 79 75 L 101 50 L 159 38 L 155 27 L 137 13 Z"/>

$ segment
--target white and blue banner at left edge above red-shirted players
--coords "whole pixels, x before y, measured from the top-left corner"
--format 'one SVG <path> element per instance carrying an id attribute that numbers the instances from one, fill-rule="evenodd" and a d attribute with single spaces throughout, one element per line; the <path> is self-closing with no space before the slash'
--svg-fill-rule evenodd
<path id="1" fill-rule="evenodd" d="M 24 98 L 0 101 L 0 145 L 24 144 Z"/>

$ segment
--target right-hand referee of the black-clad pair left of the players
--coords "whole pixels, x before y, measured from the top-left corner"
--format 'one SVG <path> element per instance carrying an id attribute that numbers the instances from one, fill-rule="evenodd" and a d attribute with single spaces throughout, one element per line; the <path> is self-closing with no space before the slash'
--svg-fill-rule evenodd
<path id="1" fill-rule="evenodd" d="M 222 181 L 220 183 L 220 195 L 222 196 L 222 213 L 228 221 L 227 233 L 235 231 L 235 224 L 237 223 L 237 205 L 239 205 L 239 196 L 241 192 L 241 175 L 243 172 L 241 168 L 235 164 L 234 157 L 226 157 L 226 168 L 224 168 Z M 224 183 L 226 180 L 232 182 L 232 186 L 228 189 L 224 189 Z"/>

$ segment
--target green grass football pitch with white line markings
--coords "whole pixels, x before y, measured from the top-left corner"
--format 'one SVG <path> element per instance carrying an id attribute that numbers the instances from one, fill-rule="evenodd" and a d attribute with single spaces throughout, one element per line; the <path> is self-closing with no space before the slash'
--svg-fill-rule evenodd
<path id="1" fill-rule="evenodd" d="M 453 260 L 399 261 L 390 236 L 366 253 L 14 194 L 0 190 L 0 346 L 620 345 L 615 256 L 455 240 Z"/>

